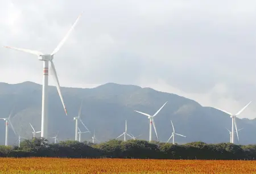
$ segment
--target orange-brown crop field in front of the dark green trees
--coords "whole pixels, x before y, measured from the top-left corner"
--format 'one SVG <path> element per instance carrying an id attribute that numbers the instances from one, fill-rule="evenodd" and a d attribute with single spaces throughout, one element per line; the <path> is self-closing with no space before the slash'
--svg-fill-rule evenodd
<path id="1" fill-rule="evenodd" d="M 256 161 L 0 158 L 0 173 L 256 173 Z"/>

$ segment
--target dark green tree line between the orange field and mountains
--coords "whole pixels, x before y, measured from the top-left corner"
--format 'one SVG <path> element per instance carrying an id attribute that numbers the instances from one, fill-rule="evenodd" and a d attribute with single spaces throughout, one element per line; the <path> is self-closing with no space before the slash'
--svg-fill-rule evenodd
<path id="1" fill-rule="evenodd" d="M 58 158 L 136 158 L 136 159 L 256 159 L 256 145 L 233 143 L 207 144 L 192 142 L 184 145 L 143 140 L 93 144 L 91 142 L 61 141 L 48 143 L 44 138 L 26 139 L 18 146 L 0 146 L 0 157 L 58 157 Z"/>

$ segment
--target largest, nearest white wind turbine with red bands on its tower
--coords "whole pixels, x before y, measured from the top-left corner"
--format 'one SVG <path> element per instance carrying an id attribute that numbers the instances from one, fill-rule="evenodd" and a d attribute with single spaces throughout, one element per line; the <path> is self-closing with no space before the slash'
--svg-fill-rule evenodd
<path id="1" fill-rule="evenodd" d="M 68 33 L 64 36 L 63 40 L 60 41 L 59 45 L 53 50 L 51 54 L 44 54 L 42 52 L 36 51 L 36 50 L 29 50 L 29 49 L 23 49 L 23 48 L 15 48 L 15 47 L 10 47 L 10 46 L 5 46 L 5 48 L 10 48 L 10 49 L 15 49 L 19 50 L 21 52 L 26 52 L 30 54 L 34 54 L 38 56 L 38 59 L 40 61 L 43 61 L 43 90 L 42 90 L 42 125 L 41 125 L 41 137 L 48 138 L 48 67 L 49 67 L 49 62 L 51 62 L 51 71 L 53 73 L 53 78 L 56 83 L 57 91 L 60 96 L 61 103 L 63 104 L 65 114 L 68 115 L 67 109 L 65 107 L 63 97 L 60 92 L 60 83 L 59 79 L 57 77 L 55 65 L 53 64 L 53 56 L 59 51 L 61 46 L 65 43 L 67 40 L 68 36 L 70 35 L 71 31 L 73 28 L 76 26 L 76 23 L 78 22 L 81 14 L 79 17 L 76 19 L 76 22 L 73 24 L 71 29 L 69 29 Z"/>

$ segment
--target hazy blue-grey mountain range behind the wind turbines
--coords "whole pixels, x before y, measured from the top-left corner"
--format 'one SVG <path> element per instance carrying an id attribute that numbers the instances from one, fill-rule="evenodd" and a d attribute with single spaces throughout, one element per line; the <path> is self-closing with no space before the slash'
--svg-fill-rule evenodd
<path id="1" fill-rule="evenodd" d="M 59 131 L 59 139 L 75 139 L 75 121 L 81 101 L 83 100 L 81 118 L 90 131 L 96 129 L 100 141 L 113 139 L 125 131 L 135 137 L 148 139 L 149 122 L 146 116 L 134 110 L 154 114 L 166 101 L 166 106 L 155 117 L 159 141 L 166 142 L 172 132 L 171 120 L 175 131 L 184 137 L 175 137 L 178 143 L 203 141 L 206 143 L 229 142 L 231 118 L 228 114 L 210 107 L 202 107 L 196 101 L 185 97 L 142 88 L 133 85 L 106 83 L 96 88 L 61 87 L 68 116 L 65 115 L 56 87 L 49 87 L 49 129 L 48 136 L 54 137 Z M 2 118 L 8 117 L 17 133 L 31 138 L 32 129 L 36 131 L 41 125 L 42 86 L 32 82 L 19 84 L 0 83 L 0 111 Z M 241 144 L 256 144 L 250 135 L 256 132 L 256 119 L 237 119 Z M 85 129 L 80 124 L 81 131 Z M 90 141 L 92 134 L 82 134 L 82 141 Z M 10 143 L 15 143 L 13 131 L 9 131 Z M 53 139 L 48 138 L 50 141 Z M 153 139 L 156 140 L 153 130 Z M 236 138 L 237 142 L 237 138 Z M 5 122 L 0 120 L 0 144 L 5 143 Z"/>

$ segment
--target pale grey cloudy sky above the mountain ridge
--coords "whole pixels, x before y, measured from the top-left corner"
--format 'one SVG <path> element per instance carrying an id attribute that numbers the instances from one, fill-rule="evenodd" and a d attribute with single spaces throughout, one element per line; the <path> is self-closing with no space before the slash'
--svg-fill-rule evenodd
<path id="1" fill-rule="evenodd" d="M 50 54 L 60 85 L 151 87 L 256 117 L 254 0 L 0 0 L 0 45 Z M 1 82 L 42 84 L 43 62 L 0 48 Z M 49 84 L 53 78 L 49 77 Z"/>

